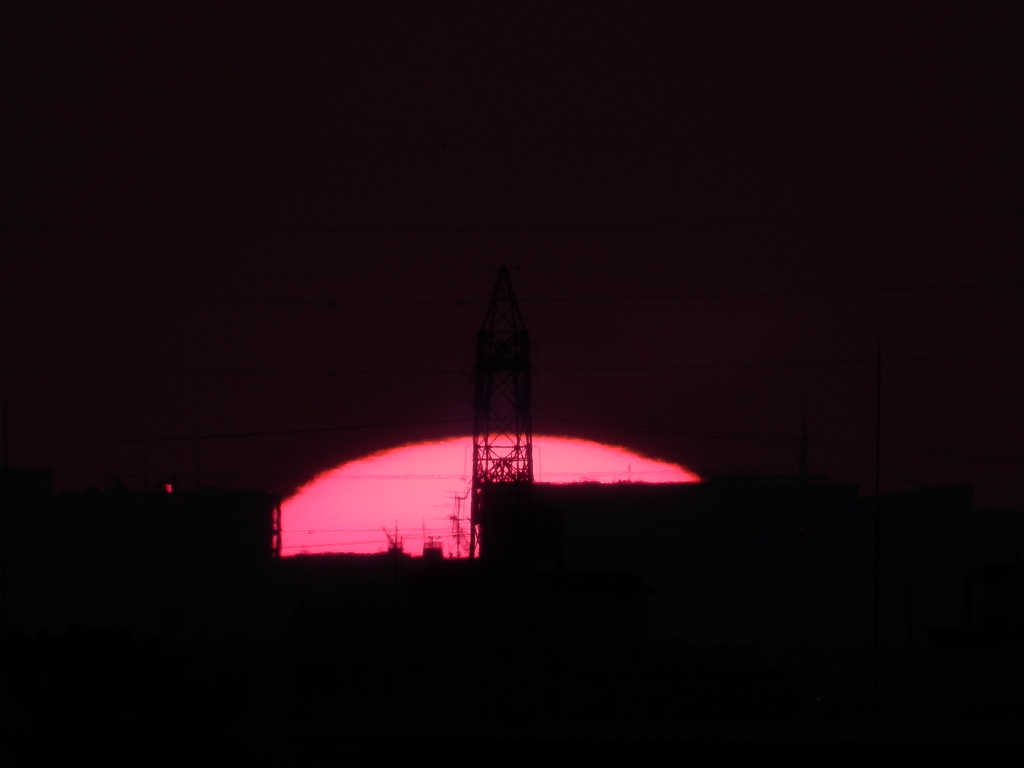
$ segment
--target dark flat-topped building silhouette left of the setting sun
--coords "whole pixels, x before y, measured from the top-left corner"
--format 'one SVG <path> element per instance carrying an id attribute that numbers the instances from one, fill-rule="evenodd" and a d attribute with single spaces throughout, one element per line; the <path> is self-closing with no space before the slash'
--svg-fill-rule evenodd
<path id="1" fill-rule="evenodd" d="M 280 497 L 244 490 L 52 493 L 12 473 L 8 615 L 145 635 L 279 632 L 271 605 Z"/>

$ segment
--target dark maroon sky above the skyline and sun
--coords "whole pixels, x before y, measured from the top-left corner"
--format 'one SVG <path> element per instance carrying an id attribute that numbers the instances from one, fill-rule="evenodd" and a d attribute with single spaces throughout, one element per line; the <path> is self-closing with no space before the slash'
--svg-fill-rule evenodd
<path id="1" fill-rule="evenodd" d="M 884 489 L 1024 506 L 1012 4 L 38 5 L 0 369 L 60 487 L 140 485 L 145 435 L 151 480 L 288 490 L 465 433 L 507 264 L 538 432 L 794 472 L 806 396 L 870 490 L 881 337 Z"/>

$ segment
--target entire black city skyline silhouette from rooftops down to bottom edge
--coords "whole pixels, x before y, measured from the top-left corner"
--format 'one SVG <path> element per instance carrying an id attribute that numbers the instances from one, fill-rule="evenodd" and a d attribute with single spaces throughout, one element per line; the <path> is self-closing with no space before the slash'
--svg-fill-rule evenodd
<path id="1" fill-rule="evenodd" d="M 984 763 L 1024 735 L 1024 530 L 970 488 L 884 498 L 877 651 L 855 487 L 535 490 L 531 567 L 282 559 L 258 494 L 12 494 L 4 758 Z"/>

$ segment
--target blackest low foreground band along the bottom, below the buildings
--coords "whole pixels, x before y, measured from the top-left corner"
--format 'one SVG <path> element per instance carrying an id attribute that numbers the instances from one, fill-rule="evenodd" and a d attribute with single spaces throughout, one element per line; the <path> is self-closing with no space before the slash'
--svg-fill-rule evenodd
<path id="1" fill-rule="evenodd" d="M 1019 719 L 842 722 L 758 669 L 550 667 L 446 658 L 324 633 L 289 640 L 141 639 L 72 627 L 3 641 L 8 765 L 348 764 L 497 754 L 695 765 L 1009 765 Z M 1004 716 L 1007 713 L 1002 713 Z M 995 717 L 992 717 L 995 715 Z"/>

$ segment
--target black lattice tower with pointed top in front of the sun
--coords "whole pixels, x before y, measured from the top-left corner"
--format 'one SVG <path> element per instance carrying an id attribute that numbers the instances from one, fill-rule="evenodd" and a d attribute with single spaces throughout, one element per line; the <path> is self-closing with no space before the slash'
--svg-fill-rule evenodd
<path id="1" fill-rule="evenodd" d="M 503 266 L 476 337 L 470 558 L 508 562 L 530 550 L 529 378 L 529 336 Z"/>

